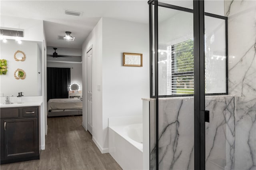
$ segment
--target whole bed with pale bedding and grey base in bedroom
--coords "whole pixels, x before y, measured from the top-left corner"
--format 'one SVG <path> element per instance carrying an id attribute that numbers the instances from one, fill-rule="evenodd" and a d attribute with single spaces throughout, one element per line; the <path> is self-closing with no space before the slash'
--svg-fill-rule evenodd
<path id="1" fill-rule="evenodd" d="M 48 117 L 82 115 L 82 100 L 74 99 L 50 99 L 47 102 Z"/>

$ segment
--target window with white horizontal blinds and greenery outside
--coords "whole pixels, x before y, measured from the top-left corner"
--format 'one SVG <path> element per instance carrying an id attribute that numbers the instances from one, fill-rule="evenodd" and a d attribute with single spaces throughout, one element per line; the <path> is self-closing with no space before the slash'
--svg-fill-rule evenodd
<path id="1" fill-rule="evenodd" d="M 186 40 L 167 47 L 168 89 L 172 95 L 194 94 L 194 43 Z M 171 58 L 171 59 L 170 59 Z M 171 68 L 171 69 L 170 69 Z"/>

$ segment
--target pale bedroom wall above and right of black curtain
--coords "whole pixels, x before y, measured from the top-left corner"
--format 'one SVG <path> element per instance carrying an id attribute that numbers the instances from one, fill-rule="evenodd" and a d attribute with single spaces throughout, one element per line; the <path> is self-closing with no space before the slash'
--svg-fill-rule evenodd
<path id="1" fill-rule="evenodd" d="M 80 85 L 80 90 L 82 90 L 82 63 L 47 62 L 47 67 L 71 68 L 70 83 L 78 83 Z"/>

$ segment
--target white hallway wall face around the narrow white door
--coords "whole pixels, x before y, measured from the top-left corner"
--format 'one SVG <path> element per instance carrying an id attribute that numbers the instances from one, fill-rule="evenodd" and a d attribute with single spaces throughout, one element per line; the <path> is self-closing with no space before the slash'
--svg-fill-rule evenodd
<path id="1" fill-rule="evenodd" d="M 83 77 L 83 122 L 87 130 L 86 119 L 86 50 L 92 47 L 92 139 L 99 148 L 102 147 L 102 90 L 97 91 L 97 85 L 102 87 L 102 18 L 94 27 L 82 45 L 82 77 Z"/>

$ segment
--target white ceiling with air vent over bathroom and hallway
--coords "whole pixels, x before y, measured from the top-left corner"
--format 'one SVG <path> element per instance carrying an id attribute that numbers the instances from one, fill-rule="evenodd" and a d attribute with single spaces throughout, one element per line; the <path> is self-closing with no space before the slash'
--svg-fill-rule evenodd
<path id="1" fill-rule="evenodd" d="M 0 14 L 44 20 L 48 46 L 82 48 L 82 43 L 101 17 L 148 23 L 147 0 L 18 0 L 0 2 Z M 64 14 L 64 9 L 83 12 L 82 16 Z M 58 35 L 72 32 L 74 42 L 58 40 Z"/>

